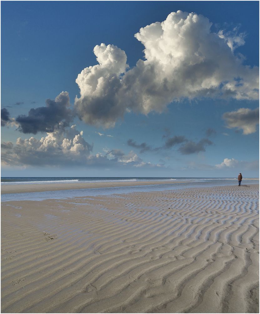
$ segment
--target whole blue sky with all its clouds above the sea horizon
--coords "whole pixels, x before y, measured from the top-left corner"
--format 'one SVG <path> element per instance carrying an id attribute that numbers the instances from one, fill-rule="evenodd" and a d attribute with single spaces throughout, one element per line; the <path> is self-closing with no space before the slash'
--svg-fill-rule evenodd
<path id="1" fill-rule="evenodd" d="M 259 176 L 258 1 L 1 1 L 1 176 Z"/>

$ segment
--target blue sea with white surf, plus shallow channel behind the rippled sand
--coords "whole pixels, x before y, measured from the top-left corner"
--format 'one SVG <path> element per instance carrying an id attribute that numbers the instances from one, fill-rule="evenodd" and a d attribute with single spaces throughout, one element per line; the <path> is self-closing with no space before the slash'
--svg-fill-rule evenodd
<path id="1" fill-rule="evenodd" d="M 131 192 L 149 192 L 174 190 L 188 187 L 213 187 L 237 185 L 237 178 L 206 178 L 206 177 L 1 177 L 2 185 L 54 184 L 54 183 L 92 183 L 92 182 L 124 182 L 124 181 L 170 181 L 168 184 L 135 185 L 132 187 L 103 187 L 89 189 L 72 189 L 61 191 L 14 193 L 1 195 L 1 202 L 15 200 L 65 199 L 79 196 L 111 195 Z M 180 183 L 175 183 L 178 181 Z M 259 178 L 243 178 L 242 186 L 259 184 Z"/>

